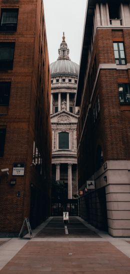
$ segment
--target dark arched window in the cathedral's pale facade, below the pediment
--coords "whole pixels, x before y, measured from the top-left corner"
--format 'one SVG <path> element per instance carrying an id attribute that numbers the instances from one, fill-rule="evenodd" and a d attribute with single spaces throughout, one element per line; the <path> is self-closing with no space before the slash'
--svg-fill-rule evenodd
<path id="1" fill-rule="evenodd" d="M 69 149 L 69 133 L 58 133 L 58 149 Z"/>

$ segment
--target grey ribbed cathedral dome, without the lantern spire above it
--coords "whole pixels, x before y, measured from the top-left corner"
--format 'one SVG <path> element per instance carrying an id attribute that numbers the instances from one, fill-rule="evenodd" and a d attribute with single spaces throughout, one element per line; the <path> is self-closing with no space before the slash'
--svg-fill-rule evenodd
<path id="1" fill-rule="evenodd" d="M 50 64 L 50 74 L 74 74 L 78 75 L 79 65 L 70 59 L 59 59 Z"/>

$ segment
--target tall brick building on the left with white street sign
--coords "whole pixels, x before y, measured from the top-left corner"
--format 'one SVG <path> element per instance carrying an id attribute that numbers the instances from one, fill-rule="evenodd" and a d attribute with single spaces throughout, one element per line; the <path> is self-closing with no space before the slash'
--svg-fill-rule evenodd
<path id="1" fill-rule="evenodd" d="M 33 228 L 49 215 L 49 107 L 50 72 L 42 0 L 0 0 L 2 235 L 16 235 L 26 216 Z"/>

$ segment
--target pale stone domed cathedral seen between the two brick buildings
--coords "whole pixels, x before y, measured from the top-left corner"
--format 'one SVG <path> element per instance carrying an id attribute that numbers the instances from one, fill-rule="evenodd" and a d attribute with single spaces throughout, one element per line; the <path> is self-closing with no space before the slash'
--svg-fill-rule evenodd
<path id="1" fill-rule="evenodd" d="M 77 194 L 76 126 L 78 107 L 75 94 L 78 64 L 69 58 L 69 49 L 63 33 L 58 58 L 50 64 L 52 127 L 52 179 L 64 182 L 68 199 Z"/>

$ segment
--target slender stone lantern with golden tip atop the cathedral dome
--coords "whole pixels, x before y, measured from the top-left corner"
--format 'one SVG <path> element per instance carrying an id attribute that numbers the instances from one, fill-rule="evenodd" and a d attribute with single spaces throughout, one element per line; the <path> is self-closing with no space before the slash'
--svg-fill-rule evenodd
<path id="1" fill-rule="evenodd" d="M 67 47 L 67 43 L 65 42 L 65 36 L 63 32 L 62 42 L 60 43 L 60 48 L 58 49 L 58 58 L 57 60 L 66 59 L 70 60 L 69 58 L 69 48 Z"/>

